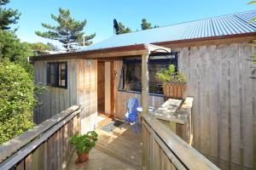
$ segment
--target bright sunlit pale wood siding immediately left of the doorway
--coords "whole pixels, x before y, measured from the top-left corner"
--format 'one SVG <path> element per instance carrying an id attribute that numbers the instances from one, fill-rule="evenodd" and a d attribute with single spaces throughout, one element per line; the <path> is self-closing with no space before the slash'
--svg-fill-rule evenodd
<path id="1" fill-rule="evenodd" d="M 81 133 L 96 127 L 97 116 L 97 61 L 94 59 L 77 60 L 77 103 L 81 111 Z"/>

